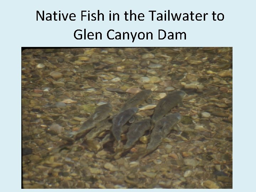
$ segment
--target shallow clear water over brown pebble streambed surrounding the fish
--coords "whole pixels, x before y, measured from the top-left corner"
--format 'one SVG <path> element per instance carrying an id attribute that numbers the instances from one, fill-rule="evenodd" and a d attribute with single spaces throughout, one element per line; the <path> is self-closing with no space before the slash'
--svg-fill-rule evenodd
<path id="1" fill-rule="evenodd" d="M 232 188 L 232 48 L 26 49 L 21 78 L 24 188 Z M 186 92 L 180 130 L 153 153 L 130 161 L 145 137 L 116 160 L 113 142 L 97 148 L 104 135 L 67 145 L 98 105 L 114 115 L 144 89 L 139 107 Z"/>

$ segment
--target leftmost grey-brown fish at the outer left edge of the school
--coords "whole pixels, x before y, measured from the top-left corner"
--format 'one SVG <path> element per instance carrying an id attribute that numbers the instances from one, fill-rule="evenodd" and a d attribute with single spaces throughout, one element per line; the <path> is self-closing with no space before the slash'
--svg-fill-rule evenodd
<path id="1" fill-rule="evenodd" d="M 76 138 L 80 137 L 86 132 L 89 132 L 92 128 L 96 126 L 98 122 L 105 120 L 109 113 L 112 111 L 112 106 L 110 102 L 103 104 L 95 109 L 95 112 L 90 116 L 90 118 L 85 121 L 78 132 L 75 133 Z"/>

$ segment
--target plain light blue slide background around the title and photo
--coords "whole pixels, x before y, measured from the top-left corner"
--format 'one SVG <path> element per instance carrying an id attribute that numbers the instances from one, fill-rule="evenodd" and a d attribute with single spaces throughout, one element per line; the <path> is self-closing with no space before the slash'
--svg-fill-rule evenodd
<path id="1" fill-rule="evenodd" d="M 255 190 L 255 1 L 2 1 L 1 22 L 1 191 L 21 189 L 21 47 L 233 47 L 233 191 Z M 80 11 L 100 10 L 105 21 L 80 21 Z M 123 12 L 145 21 L 124 21 Z M 150 21 L 149 10 L 207 12 L 207 21 Z M 36 21 L 36 10 L 75 13 L 76 21 Z M 120 21 L 108 21 L 109 10 Z M 224 21 L 211 19 L 222 12 Z M 74 31 L 100 31 L 102 40 L 76 40 Z M 154 40 L 108 40 L 109 29 L 151 31 Z M 158 40 L 157 30 L 185 31 L 187 40 Z M 23 190 L 27 191 L 27 190 Z M 30 190 L 31 191 L 31 190 Z M 37 191 L 37 190 L 32 190 Z M 66 191 L 66 190 L 64 190 Z M 112 191 L 112 190 L 108 190 Z M 147 190 L 148 191 L 148 190 Z M 176 190 L 174 190 L 176 191 Z M 188 190 L 185 190 L 188 191 Z M 208 190 L 203 190 L 208 191 Z M 223 191 L 223 190 L 222 190 Z M 231 191 L 231 190 L 225 190 Z"/>

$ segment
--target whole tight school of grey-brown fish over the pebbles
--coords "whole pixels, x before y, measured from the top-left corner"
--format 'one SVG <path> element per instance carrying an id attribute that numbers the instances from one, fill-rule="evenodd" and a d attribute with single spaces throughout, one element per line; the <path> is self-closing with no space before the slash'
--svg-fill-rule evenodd
<path id="1" fill-rule="evenodd" d="M 143 158 L 157 149 L 162 139 L 166 138 L 175 124 L 181 120 L 180 113 L 170 112 L 172 108 L 182 105 L 182 99 L 185 96 L 185 92 L 182 90 L 169 92 L 159 100 L 151 118 L 138 118 L 136 116 L 136 113 L 139 112 L 138 106 L 143 104 L 151 94 L 151 90 L 138 92 L 123 104 L 116 115 L 112 116 L 110 102 L 98 106 L 81 128 L 77 132 L 70 133 L 68 138 L 70 140 L 72 138 L 73 141 L 84 138 L 88 149 L 94 151 L 102 149 L 103 145 L 108 142 L 116 143 L 114 145 L 115 152 L 110 155 L 110 158 L 118 159 L 148 132 L 149 142 L 146 148 L 134 153 L 130 159 Z M 123 133 L 125 137 L 122 137 Z M 125 144 L 121 144 L 125 140 Z"/>

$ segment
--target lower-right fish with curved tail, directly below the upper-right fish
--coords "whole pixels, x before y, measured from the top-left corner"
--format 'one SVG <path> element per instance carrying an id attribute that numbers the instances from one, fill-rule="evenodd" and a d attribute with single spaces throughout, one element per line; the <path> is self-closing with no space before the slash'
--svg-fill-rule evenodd
<path id="1" fill-rule="evenodd" d="M 154 151 L 161 144 L 164 139 L 172 130 L 172 128 L 181 120 L 180 113 L 169 114 L 155 123 L 154 128 L 150 134 L 149 143 L 145 150 L 140 153 L 134 154 L 131 160 L 142 158 L 145 155 Z"/>

